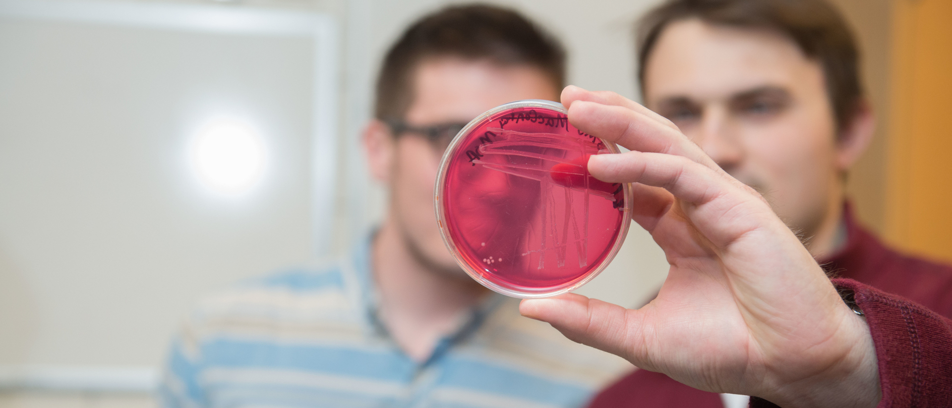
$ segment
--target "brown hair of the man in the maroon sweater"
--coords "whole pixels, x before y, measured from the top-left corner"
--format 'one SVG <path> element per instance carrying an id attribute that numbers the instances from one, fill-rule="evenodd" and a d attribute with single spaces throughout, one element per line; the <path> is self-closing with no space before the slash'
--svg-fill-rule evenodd
<path id="1" fill-rule="evenodd" d="M 664 28 L 698 18 L 715 26 L 770 29 L 786 35 L 823 68 L 837 126 L 847 126 L 863 98 L 856 41 L 843 16 L 823 0 L 669 0 L 649 11 L 638 27 L 638 80 Z"/>

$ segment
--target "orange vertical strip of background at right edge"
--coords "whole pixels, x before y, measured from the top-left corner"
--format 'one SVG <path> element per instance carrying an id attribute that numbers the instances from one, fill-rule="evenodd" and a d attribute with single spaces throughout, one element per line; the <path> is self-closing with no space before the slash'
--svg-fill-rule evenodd
<path id="1" fill-rule="evenodd" d="M 952 262 L 952 1 L 893 6 L 886 239 Z"/>

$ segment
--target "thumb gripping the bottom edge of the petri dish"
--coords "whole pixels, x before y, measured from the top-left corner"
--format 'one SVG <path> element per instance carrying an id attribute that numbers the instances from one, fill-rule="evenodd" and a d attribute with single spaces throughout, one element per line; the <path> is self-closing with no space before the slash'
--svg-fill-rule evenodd
<path id="1" fill-rule="evenodd" d="M 551 324 L 569 340 L 638 365 L 633 351 L 641 349 L 644 341 L 643 319 L 637 310 L 569 293 L 555 298 L 523 300 L 519 303 L 519 313 Z"/>

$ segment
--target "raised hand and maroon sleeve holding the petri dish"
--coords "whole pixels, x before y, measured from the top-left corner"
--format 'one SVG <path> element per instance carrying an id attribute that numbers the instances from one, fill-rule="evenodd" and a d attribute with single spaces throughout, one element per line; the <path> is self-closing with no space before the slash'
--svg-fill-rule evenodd
<path id="1" fill-rule="evenodd" d="M 686 384 L 640 386 L 632 376 L 593 405 L 723 406 L 716 394 L 653 396 L 696 388 L 757 397 L 755 408 L 949 406 L 952 320 L 868 284 L 831 281 L 760 193 L 657 113 L 578 87 L 566 87 L 562 103 L 574 126 L 631 150 L 592 156 L 588 170 L 635 184 L 632 218 L 671 268 L 637 310 L 577 294 L 527 299 L 520 310 Z"/>

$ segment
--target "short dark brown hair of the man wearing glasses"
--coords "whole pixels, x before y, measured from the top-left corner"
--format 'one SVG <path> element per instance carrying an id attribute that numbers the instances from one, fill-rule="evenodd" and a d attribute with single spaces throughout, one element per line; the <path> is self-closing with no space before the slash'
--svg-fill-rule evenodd
<path id="1" fill-rule="evenodd" d="M 565 50 L 521 14 L 495 6 L 450 6 L 417 21 L 387 51 L 374 116 L 404 119 L 413 102 L 415 68 L 426 58 L 444 56 L 530 65 L 542 69 L 557 89 L 565 84 Z"/>

